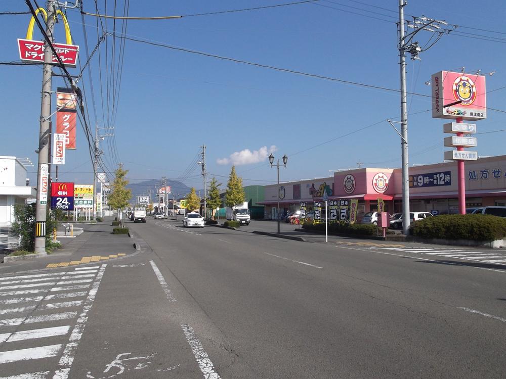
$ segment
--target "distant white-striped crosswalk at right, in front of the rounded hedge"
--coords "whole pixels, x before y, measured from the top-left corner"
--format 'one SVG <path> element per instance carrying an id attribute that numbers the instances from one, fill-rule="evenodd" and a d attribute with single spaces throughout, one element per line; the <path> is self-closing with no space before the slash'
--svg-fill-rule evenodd
<path id="1" fill-rule="evenodd" d="M 484 263 L 506 264 L 506 251 L 435 249 L 435 248 L 382 248 L 406 253 L 427 254 L 438 257 L 458 258 Z"/>

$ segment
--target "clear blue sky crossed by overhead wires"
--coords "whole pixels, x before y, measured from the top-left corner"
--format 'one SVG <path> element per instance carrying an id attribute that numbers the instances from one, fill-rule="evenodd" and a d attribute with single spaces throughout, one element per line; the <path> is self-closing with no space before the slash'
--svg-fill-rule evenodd
<path id="1" fill-rule="evenodd" d="M 113 2 L 107 3 L 107 13 L 111 14 Z M 117 3 L 121 3 L 117 13 L 122 15 L 123 2 Z M 149 4 L 132 1 L 129 16 L 193 15 L 283 3 L 289 1 L 153 0 Z M 408 3 L 406 19 L 408 15 L 425 15 L 446 20 L 459 25 L 456 31 L 462 33 L 444 35 L 430 50 L 421 53 L 421 61 L 408 61 L 408 91 L 429 95 L 430 86 L 425 82 L 431 74 L 462 66 L 473 73 L 478 69 L 482 73 L 496 71 L 493 76 L 487 76 L 489 91 L 506 86 L 506 72 L 501 67 L 506 61 L 503 27 L 506 3 L 485 1 L 479 7 L 471 1 L 448 0 L 444 6 L 437 0 Z M 104 0 L 98 4 L 104 13 Z M 320 0 L 313 4 L 172 20 L 132 20 L 126 35 L 252 63 L 398 89 L 397 4 L 395 0 Z M 83 9 L 94 13 L 94 2 L 86 1 Z M 19 0 L 4 0 L 0 6 L 0 12 L 27 10 L 26 4 Z M 81 15 L 69 10 L 67 17 L 84 64 Z M 29 15 L 4 15 L 0 21 L 3 31 L 0 61 L 16 61 L 19 59 L 16 38 L 25 37 Z M 97 19 L 84 16 L 84 21 L 91 52 L 97 43 Z M 107 29 L 112 32 L 111 21 Z M 121 23 L 117 22 L 116 32 L 120 31 Z M 432 36 L 421 31 L 416 40 L 425 44 Z M 41 39 L 37 31 L 34 37 Z M 64 42 L 61 24 L 57 25 L 56 38 Z M 120 89 L 114 106 L 117 115 L 113 118 L 112 106 L 107 112 L 105 89 L 106 75 L 111 73 L 111 36 L 107 37 L 107 43 L 107 52 L 105 43 L 100 46 L 101 60 L 98 53 L 91 60 L 92 76 L 85 70 L 79 85 L 85 85 L 88 121 L 93 130 L 97 121 L 100 126 L 115 128 L 115 141 L 106 137 L 101 143 L 105 165 L 113 170 L 117 161 L 122 162 L 130 170 L 132 182 L 167 176 L 183 178 L 186 184 L 201 188 L 200 166 L 194 163 L 194 158 L 202 144 L 207 147 L 209 177 L 217 176 L 223 183 L 232 162 L 239 163 L 236 169 L 245 184 L 275 182 L 276 172 L 265 159 L 271 151 L 277 158 L 283 154 L 289 157 L 286 169 L 281 171 L 281 180 L 324 177 L 330 175 L 329 170 L 356 167 L 359 161 L 365 167 L 400 167 L 400 138 L 385 121 L 387 118 L 399 120 L 398 92 L 126 40 Z M 117 67 L 117 50 L 114 62 Z M 0 70 L 3 88 L 0 109 L 4 123 L 1 154 L 29 157 L 36 163 L 41 68 L 0 66 Z M 69 71 L 78 73 L 77 69 Z M 53 89 L 63 85 L 61 78 L 54 78 Z M 504 138 L 505 132 L 492 131 L 504 129 L 505 94 L 506 88 L 502 88 L 487 96 L 487 106 L 499 111 L 489 110 L 488 118 L 477 122 L 479 133 L 491 132 L 477 135 L 476 150 L 480 156 L 504 152 L 498 141 Z M 443 160 L 445 121 L 432 119 L 431 113 L 426 112 L 430 108 L 430 99 L 408 96 L 410 164 Z M 114 154 L 114 143 L 117 154 Z M 251 154 L 231 157 L 246 149 Z M 92 180 L 88 143 L 80 126 L 77 150 L 67 152 L 67 163 L 60 172 L 64 172 L 60 180 L 80 183 Z M 34 183 L 35 174 L 31 173 L 30 177 Z"/>

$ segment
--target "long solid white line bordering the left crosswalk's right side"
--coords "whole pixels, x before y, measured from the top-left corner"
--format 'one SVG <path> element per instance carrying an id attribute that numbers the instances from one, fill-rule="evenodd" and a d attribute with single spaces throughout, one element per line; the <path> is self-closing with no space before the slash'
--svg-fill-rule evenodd
<path id="1" fill-rule="evenodd" d="M 55 371 L 53 375 L 53 379 L 67 379 L 70 368 L 72 367 L 72 363 L 74 362 L 74 354 L 79 346 L 79 341 L 82 337 L 82 333 L 85 330 L 86 322 L 88 321 L 88 312 L 92 309 L 93 302 L 95 301 L 95 296 L 97 296 L 98 288 L 100 286 L 100 282 L 102 280 L 102 276 L 104 276 L 104 270 L 107 267 L 106 264 L 103 264 L 100 267 L 100 270 L 93 282 L 92 288 L 90 289 L 90 293 L 85 300 L 85 305 L 82 307 L 82 312 L 79 314 L 79 318 L 76 321 L 74 328 L 72 329 L 72 333 L 69 337 L 69 342 L 65 346 L 62 356 L 60 357 L 60 361 L 58 365 L 60 368 Z"/>

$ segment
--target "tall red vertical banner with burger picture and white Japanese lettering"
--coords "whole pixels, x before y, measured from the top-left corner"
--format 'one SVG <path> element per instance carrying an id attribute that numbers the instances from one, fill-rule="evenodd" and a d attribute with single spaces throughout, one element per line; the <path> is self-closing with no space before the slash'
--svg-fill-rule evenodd
<path id="1" fill-rule="evenodd" d="M 75 150 L 77 99 L 71 88 L 58 87 L 56 92 L 56 132 L 65 134 L 65 148 Z"/>

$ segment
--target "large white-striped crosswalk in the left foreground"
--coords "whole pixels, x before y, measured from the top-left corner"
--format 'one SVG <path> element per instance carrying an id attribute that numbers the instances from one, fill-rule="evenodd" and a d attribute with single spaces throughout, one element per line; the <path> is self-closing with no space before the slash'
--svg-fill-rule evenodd
<path id="1" fill-rule="evenodd" d="M 0 276 L 0 379 L 68 378 L 106 266 Z"/>

